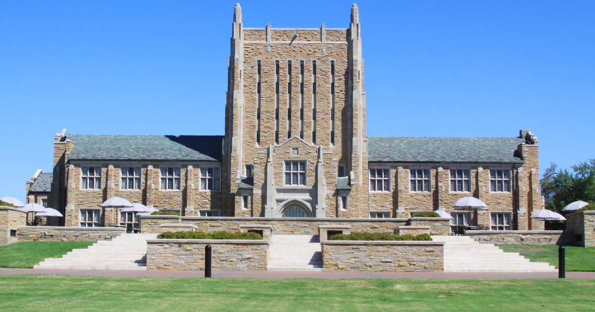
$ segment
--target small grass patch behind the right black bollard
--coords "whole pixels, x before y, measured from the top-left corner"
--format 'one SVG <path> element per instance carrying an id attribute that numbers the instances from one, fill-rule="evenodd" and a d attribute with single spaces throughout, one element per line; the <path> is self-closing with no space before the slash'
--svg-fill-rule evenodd
<path id="1" fill-rule="evenodd" d="M 558 269 L 557 245 L 500 245 L 504 251 L 520 253 L 534 262 L 548 262 Z M 566 246 L 566 271 L 595 271 L 595 247 Z"/>

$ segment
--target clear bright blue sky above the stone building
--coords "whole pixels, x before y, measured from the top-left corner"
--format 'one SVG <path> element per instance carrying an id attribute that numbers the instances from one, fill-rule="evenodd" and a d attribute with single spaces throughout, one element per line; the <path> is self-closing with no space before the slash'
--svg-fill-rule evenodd
<path id="1" fill-rule="evenodd" d="M 246 27 L 348 27 L 352 1 L 243 1 Z M 223 134 L 234 1 L 0 1 L 0 197 L 54 134 Z M 595 1 L 360 1 L 368 135 L 513 137 L 595 157 Z"/>

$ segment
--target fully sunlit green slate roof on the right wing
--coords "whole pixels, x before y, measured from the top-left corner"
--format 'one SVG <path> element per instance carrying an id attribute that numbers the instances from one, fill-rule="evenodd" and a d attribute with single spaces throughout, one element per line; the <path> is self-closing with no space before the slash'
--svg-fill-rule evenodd
<path id="1" fill-rule="evenodd" d="M 369 162 L 522 163 L 522 138 L 368 137 Z"/>

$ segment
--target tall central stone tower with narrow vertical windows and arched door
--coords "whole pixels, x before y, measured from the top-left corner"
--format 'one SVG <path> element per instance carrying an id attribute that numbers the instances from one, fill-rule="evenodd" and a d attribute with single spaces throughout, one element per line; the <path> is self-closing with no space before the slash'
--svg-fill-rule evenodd
<path id="1" fill-rule="evenodd" d="M 347 29 L 246 28 L 236 4 L 224 215 L 367 217 L 363 77 L 355 4 Z"/>

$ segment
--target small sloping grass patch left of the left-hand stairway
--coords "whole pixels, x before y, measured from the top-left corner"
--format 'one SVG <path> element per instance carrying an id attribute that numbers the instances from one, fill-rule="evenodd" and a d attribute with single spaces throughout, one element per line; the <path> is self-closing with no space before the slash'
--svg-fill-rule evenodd
<path id="1" fill-rule="evenodd" d="M 15 242 L 0 246 L 0 267 L 33 267 L 46 258 L 61 257 L 76 248 L 93 242 Z"/>

